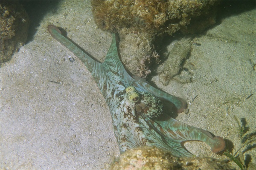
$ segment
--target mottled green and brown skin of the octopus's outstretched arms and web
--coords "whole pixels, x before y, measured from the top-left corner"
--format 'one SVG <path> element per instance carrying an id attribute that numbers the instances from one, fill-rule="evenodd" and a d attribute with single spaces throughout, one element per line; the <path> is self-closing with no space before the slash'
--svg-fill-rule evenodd
<path id="1" fill-rule="evenodd" d="M 135 100 L 137 102 L 129 100 L 125 91 L 129 86 L 134 87 L 139 95 L 151 94 L 162 101 L 172 102 L 177 108 L 177 112 L 182 112 L 186 108 L 186 102 L 179 97 L 152 87 L 143 79 L 131 77 L 125 71 L 119 59 L 115 34 L 113 34 L 113 40 L 105 61 L 100 63 L 62 36 L 57 27 L 49 25 L 48 31 L 56 40 L 69 48 L 84 62 L 84 65 L 94 77 L 111 112 L 114 133 L 119 144 L 120 153 L 131 148 L 147 145 L 169 150 L 177 157 L 192 156 L 191 153 L 183 148 L 183 143 L 191 140 L 206 142 L 214 153 L 224 150 L 225 142 L 221 137 L 213 137 L 206 130 L 177 121 L 169 116 L 170 113 L 159 113 L 161 119 L 153 119 L 143 114 L 140 109 L 140 112 L 137 112 L 138 109 L 136 111 L 136 106 L 142 99 Z M 147 101 L 147 103 L 150 102 L 155 101 Z M 159 111 L 162 110 L 160 109 Z"/>

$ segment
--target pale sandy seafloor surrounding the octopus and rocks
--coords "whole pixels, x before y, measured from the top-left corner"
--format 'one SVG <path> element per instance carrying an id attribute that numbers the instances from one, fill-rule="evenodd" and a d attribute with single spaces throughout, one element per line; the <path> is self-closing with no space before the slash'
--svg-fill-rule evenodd
<path id="1" fill-rule="evenodd" d="M 89 1 L 61 1 L 49 9 L 42 3 L 42 8 L 34 37 L 0 68 L 0 168 L 108 168 L 119 155 L 108 106 L 84 64 L 49 35 L 47 26 L 64 28 L 100 61 L 111 34 L 95 25 Z M 163 86 L 157 75 L 150 79 L 187 99 L 189 113 L 176 119 L 232 142 L 233 153 L 241 147 L 235 116 L 246 119 L 247 133 L 256 125 L 255 14 L 254 9 L 230 15 L 195 37 L 201 45 L 192 44 L 188 69 L 181 72 L 191 83 Z M 196 155 L 226 158 L 202 142 L 186 146 Z M 255 149 L 246 154 L 255 163 Z"/>

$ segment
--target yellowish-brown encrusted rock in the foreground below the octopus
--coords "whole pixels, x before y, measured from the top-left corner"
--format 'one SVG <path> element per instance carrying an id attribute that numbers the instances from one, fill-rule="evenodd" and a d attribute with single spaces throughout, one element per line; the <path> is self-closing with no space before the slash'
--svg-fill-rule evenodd
<path id="1" fill-rule="evenodd" d="M 214 158 L 175 158 L 157 147 L 139 147 L 122 153 L 111 170 L 230 170 L 226 162 Z"/>

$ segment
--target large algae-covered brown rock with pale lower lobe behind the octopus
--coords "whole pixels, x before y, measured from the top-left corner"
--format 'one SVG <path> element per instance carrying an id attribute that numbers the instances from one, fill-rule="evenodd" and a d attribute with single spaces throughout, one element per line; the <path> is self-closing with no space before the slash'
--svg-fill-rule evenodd
<path id="1" fill-rule="evenodd" d="M 94 20 L 105 31 L 118 32 L 122 62 L 139 77 L 151 73 L 160 61 L 155 51 L 157 36 L 203 31 L 215 23 L 213 0 L 93 0 Z"/>

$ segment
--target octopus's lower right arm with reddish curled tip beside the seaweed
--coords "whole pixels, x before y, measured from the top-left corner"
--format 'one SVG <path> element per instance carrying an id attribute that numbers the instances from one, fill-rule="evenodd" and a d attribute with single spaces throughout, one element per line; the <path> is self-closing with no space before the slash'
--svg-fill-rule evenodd
<path id="1" fill-rule="evenodd" d="M 189 154 L 186 148 L 183 147 L 183 143 L 186 141 L 205 142 L 211 147 L 213 153 L 218 153 L 225 149 L 224 139 L 219 136 L 213 137 L 209 132 L 201 128 L 192 127 L 171 117 L 167 121 L 145 119 L 148 119 L 147 122 L 150 126 L 163 136 L 166 145 L 172 147 L 171 151 L 177 151 L 176 155 L 187 156 Z"/>

